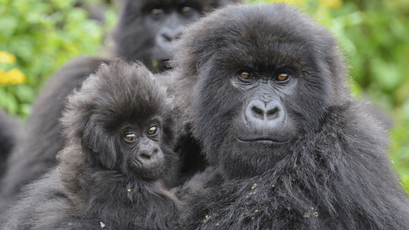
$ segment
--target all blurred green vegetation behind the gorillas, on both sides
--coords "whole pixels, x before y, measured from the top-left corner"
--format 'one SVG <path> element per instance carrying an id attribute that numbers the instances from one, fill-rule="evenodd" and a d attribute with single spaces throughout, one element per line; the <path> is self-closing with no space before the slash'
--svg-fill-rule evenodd
<path id="1" fill-rule="evenodd" d="M 276 0 L 247 0 L 271 2 Z M 389 155 L 409 192 L 409 0 L 285 2 L 299 6 L 339 39 L 349 60 L 351 91 L 372 101 L 390 125 Z M 24 121 L 61 65 L 83 54 L 110 56 L 109 32 L 118 9 L 110 0 L 0 0 L 0 107 Z M 26 79 L 7 82 L 6 76 L 16 73 L 11 69 Z"/>

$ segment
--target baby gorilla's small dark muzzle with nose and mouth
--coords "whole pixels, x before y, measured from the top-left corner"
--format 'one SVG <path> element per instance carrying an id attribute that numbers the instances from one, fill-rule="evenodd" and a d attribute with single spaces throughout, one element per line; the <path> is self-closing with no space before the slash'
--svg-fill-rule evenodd
<path id="1" fill-rule="evenodd" d="M 159 145 L 151 139 L 147 139 L 145 143 L 140 143 L 138 152 L 136 154 L 137 161 L 141 163 L 142 167 L 156 168 L 162 165 L 163 153 Z"/>

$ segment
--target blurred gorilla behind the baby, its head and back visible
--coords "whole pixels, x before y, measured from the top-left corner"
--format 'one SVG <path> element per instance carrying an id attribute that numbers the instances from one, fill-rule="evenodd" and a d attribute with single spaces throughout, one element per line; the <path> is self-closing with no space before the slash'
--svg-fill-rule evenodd
<path id="1" fill-rule="evenodd" d="M 170 55 L 169 44 L 184 25 L 198 18 L 202 11 L 234 1 L 125 0 L 114 35 L 117 55 L 142 60 L 149 69 L 161 71 L 163 61 Z M 24 142 L 11 153 L 8 170 L 0 181 L 0 210 L 18 193 L 20 185 L 38 178 L 54 165 L 63 143 L 57 122 L 63 99 L 80 87 L 101 62 L 109 60 L 91 57 L 72 60 L 57 71 L 38 96 L 22 136 Z"/>

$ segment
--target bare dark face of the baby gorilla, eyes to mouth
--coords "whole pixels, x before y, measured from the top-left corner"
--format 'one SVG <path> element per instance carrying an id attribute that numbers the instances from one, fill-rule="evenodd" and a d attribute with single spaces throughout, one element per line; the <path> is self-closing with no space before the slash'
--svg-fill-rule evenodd
<path id="1" fill-rule="evenodd" d="M 164 161 L 164 154 L 159 146 L 161 133 L 162 128 L 156 121 L 146 126 L 137 124 L 126 127 L 122 142 L 128 152 L 131 169 L 149 174 L 161 170 Z"/>

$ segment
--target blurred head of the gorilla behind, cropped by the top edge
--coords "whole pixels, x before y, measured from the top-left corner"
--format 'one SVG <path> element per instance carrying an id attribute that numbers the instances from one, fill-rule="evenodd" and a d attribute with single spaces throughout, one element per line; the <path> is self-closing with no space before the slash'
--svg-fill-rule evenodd
<path id="1" fill-rule="evenodd" d="M 117 52 L 160 72 L 173 54 L 171 43 L 189 23 L 225 0 L 125 0 L 115 33 Z"/>

